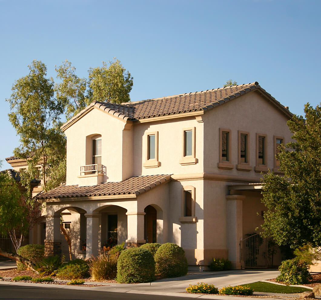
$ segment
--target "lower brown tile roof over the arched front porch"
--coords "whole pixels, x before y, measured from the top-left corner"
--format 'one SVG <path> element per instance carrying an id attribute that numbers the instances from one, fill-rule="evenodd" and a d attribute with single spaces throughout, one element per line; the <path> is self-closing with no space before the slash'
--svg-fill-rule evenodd
<path id="1" fill-rule="evenodd" d="M 134 176 L 119 182 L 106 182 L 97 186 L 58 186 L 37 199 L 88 197 L 106 195 L 142 194 L 155 186 L 170 181 L 170 175 Z M 121 196 L 120 196 L 121 197 Z"/>

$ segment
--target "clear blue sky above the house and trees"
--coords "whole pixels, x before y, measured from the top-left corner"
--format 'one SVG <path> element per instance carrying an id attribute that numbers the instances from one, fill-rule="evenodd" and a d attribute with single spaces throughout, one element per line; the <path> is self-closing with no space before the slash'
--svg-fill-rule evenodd
<path id="1" fill-rule="evenodd" d="M 321 101 L 320 9 L 319 0 L 0 0 L 0 159 L 19 145 L 5 99 L 33 59 L 55 78 L 65 59 L 87 77 L 117 57 L 134 77 L 132 101 L 258 81 L 301 115 Z"/>

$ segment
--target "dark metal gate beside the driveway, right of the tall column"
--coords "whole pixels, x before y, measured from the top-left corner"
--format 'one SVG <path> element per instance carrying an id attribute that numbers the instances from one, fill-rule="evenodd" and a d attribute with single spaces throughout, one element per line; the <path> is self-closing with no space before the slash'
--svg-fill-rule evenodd
<path id="1" fill-rule="evenodd" d="M 271 268 L 276 253 L 275 242 L 258 233 L 240 241 L 241 268 Z"/>

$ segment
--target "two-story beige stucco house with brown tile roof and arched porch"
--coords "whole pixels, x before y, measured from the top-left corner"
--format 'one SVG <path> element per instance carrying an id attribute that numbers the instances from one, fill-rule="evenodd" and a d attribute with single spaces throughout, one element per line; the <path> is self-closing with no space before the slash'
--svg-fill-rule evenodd
<path id="1" fill-rule="evenodd" d="M 240 240 L 263 222 L 261 172 L 279 173 L 274 156 L 291 140 L 291 116 L 257 82 L 92 102 L 61 127 L 66 184 L 37 196 L 46 254 L 60 252 L 62 213 L 75 257 L 115 242 L 173 242 L 190 266 L 216 257 L 240 268 Z"/>

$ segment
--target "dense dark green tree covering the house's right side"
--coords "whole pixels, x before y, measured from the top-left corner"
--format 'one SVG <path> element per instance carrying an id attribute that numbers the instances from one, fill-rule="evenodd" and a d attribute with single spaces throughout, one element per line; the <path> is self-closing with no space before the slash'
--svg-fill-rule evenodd
<path id="1" fill-rule="evenodd" d="M 321 107 L 306 104 L 304 112 L 288 121 L 295 141 L 277 155 L 285 176 L 264 175 L 263 234 L 291 248 L 321 245 Z"/>

